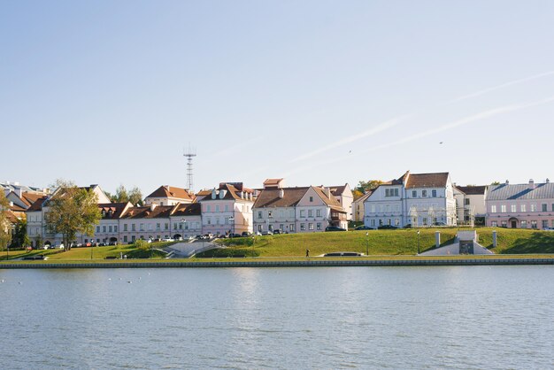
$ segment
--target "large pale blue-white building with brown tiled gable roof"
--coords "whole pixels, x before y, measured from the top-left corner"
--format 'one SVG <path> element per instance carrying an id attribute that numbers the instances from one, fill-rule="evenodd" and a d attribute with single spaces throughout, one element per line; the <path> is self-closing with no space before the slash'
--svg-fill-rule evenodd
<path id="1" fill-rule="evenodd" d="M 368 227 L 457 225 L 456 199 L 450 173 L 404 173 L 382 183 L 365 199 Z"/>

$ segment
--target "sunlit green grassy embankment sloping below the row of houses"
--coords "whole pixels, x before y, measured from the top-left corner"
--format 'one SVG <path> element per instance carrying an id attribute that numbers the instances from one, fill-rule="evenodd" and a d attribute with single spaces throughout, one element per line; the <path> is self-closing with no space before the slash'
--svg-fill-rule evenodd
<path id="1" fill-rule="evenodd" d="M 442 245 L 451 243 L 458 228 L 427 228 L 420 229 L 420 251 L 427 251 L 435 247 L 435 231 L 441 232 Z M 554 253 L 554 232 L 496 228 L 498 246 L 492 249 L 492 228 L 478 228 L 479 242 L 496 254 L 550 254 Z M 217 243 L 230 246 L 225 254 L 249 258 L 252 254 L 258 258 L 303 258 L 306 249 L 310 250 L 310 256 L 315 257 L 332 251 L 357 251 L 365 253 L 366 245 L 369 246 L 369 255 L 373 258 L 401 258 L 410 257 L 418 251 L 418 235 L 415 229 L 399 230 L 369 230 L 347 231 L 332 233 L 290 234 L 256 236 L 254 239 L 235 238 L 223 239 Z M 153 244 L 152 261 L 165 261 L 165 254 L 156 249 L 163 248 L 168 243 Z M 171 244 L 171 243 L 169 243 Z M 73 248 L 71 251 L 10 251 L 10 259 L 43 254 L 50 262 L 86 262 L 91 261 L 90 248 Z M 127 255 L 127 260 L 134 258 L 150 258 L 150 250 L 140 251 L 134 245 L 118 245 L 107 247 L 94 247 L 92 261 L 106 263 L 106 257 L 119 258 L 120 254 Z M 222 255 L 220 257 L 225 257 Z M 205 258 L 196 258 L 205 260 Z M 0 254 L 0 260 L 5 260 L 5 253 Z M 216 259 L 214 259 L 216 260 Z M 121 260 L 119 259 L 119 262 Z M 26 261 L 27 262 L 27 261 Z M 29 261 L 34 263 L 35 261 Z M 41 261 L 36 261 L 40 263 Z"/>

